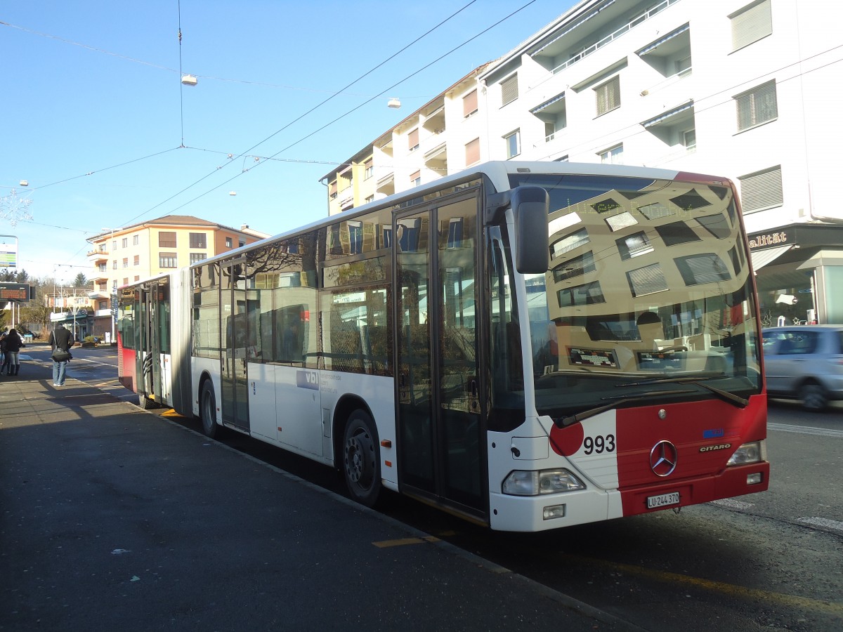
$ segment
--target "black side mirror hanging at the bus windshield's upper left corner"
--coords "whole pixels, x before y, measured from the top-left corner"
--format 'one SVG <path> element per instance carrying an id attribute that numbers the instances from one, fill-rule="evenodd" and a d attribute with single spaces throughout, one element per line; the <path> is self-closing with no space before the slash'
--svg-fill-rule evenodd
<path id="1" fill-rule="evenodd" d="M 515 269 L 521 274 L 544 274 L 550 265 L 550 196 L 540 186 L 518 186 L 510 202 L 515 216 Z"/>

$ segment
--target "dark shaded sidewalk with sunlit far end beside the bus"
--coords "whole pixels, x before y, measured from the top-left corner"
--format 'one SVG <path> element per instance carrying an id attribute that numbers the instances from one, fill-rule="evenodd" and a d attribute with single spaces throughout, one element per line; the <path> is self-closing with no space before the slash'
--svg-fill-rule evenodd
<path id="1" fill-rule="evenodd" d="M 35 629 L 629 628 L 22 362 L 0 378 L 0 630 Z"/>

